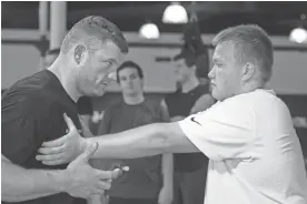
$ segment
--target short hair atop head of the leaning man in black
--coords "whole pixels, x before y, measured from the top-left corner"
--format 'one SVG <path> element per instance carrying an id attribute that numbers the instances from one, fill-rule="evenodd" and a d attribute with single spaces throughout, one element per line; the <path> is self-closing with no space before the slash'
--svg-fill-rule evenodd
<path id="1" fill-rule="evenodd" d="M 78 21 L 65 37 L 61 53 L 66 54 L 73 45 L 85 44 L 90 51 L 97 45 L 112 41 L 122 53 L 128 53 L 128 43 L 119 28 L 99 16 L 89 16 Z"/>

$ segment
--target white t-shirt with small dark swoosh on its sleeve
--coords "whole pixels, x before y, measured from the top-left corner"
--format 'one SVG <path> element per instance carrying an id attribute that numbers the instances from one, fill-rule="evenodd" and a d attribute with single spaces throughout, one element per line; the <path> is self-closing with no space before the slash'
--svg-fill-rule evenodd
<path id="1" fill-rule="evenodd" d="M 210 160 L 205 204 L 307 204 L 299 140 L 274 91 L 217 102 L 179 125 Z"/>

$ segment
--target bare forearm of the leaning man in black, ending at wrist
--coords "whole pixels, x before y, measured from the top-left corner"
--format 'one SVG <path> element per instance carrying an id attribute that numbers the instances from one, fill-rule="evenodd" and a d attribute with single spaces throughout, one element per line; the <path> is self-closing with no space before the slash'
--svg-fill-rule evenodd
<path id="1" fill-rule="evenodd" d="M 26 170 L 10 161 L 2 163 L 2 201 L 20 202 L 65 191 L 65 171 Z"/>

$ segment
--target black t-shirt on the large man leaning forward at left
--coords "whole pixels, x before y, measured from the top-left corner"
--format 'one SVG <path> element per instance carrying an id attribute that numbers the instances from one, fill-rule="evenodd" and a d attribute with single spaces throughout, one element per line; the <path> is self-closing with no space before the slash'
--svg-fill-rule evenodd
<path id="1" fill-rule="evenodd" d="M 66 134 L 63 113 L 81 130 L 77 104 L 58 78 L 43 70 L 22 79 L 3 93 L 1 102 L 2 154 L 26 169 L 66 169 L 67 164 L 47 166 L 36 160 L 42 142 Z M 19 203 L 70 204 L 72 201 L 69 194 L 59 193 Z"/>

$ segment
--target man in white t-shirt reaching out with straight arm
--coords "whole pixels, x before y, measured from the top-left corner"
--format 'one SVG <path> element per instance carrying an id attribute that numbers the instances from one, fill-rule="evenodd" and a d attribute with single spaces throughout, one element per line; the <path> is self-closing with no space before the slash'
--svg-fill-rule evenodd
<path id="1" fill-rule="evenodd" d="M 273 44 L 257 26 L 226 29 L 214 39 L 210 109 L 175 123 L 82 139 L 70 132 L 46 142 L 37 159 L 52 165 L 99 143 L 93 157 L 202 152 L 209 157 L 205 204 L 306 204 L 301 147 L 288 108 L 273 90 Z"/>

